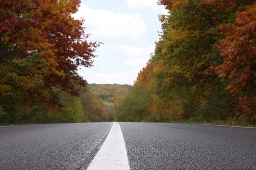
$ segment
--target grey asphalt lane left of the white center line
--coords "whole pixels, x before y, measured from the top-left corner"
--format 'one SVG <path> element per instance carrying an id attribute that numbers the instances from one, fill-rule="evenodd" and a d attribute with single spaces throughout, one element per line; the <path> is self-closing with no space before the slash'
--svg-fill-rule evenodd
<path id="1" fill-rule="evenodd" d="M 112 122 L 0 127 L 0 170 L 83 170 Z"/>

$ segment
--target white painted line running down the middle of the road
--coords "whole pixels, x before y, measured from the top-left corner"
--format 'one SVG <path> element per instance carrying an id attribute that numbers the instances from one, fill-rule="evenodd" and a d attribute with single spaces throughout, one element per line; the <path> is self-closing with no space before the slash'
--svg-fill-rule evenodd
<path id="1" fill-rule="evenodd" d="M 105 142 L 87 170 L 130 170 L 125 141 L 117 122 L 113 122 Z"/>

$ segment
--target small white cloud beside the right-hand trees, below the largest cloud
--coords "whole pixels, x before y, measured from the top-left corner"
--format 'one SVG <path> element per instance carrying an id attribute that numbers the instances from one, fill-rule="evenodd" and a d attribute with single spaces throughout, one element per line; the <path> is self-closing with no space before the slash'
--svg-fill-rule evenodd
<path id="1" fill-rule="evenodd" d="M 154 53 L 154 48 L 149 45 L 146 45 L 146 47 L 131 47 L 122 45 L 121 49 L 127 56 L 149 56 L 151 53 Z"/>

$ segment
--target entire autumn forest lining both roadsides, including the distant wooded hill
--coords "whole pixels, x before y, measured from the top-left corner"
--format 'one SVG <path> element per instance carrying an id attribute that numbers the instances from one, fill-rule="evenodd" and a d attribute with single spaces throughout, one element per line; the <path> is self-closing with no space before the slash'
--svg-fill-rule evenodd
<path id="1" fill-rule="evenodd" d="M 214 122 L 256 125 L 256 1 L 159 0 L 161 31 L 134 85 L 88 84 L 102 42 L 80 0 L 0 0 L 0 125 Z M 114 61 L 113 61 L 114 62 Z"/>

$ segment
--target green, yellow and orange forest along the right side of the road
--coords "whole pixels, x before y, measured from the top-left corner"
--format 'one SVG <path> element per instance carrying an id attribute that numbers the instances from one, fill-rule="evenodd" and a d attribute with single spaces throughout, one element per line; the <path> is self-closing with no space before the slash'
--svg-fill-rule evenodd
<path id="1" fill-rule="evenodd" d="M 256 1 L 158 3 L 169 14 L 116 120 L 256 125 Z"/>

